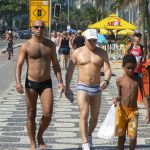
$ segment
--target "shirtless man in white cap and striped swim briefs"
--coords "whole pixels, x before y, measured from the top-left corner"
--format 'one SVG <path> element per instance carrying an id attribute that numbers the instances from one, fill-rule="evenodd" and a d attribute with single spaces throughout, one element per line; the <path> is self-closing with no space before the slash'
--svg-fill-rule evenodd
<path id="1" fill-rule="evenodd" d="M 111 69 L 106 51 L 96 47 L 97 30 L 87 29 L 85 31 L 85 46 L 73 52 L 66 73 L 67 98 L 72 93 L 70 82 L 75 65 L 78 67 L 77 99 L 80 109 L 80 133 L 82 137 L 82 149 L 90 150 L 92 146 L 92 132 L 97 122 L 101 105 L 101 91 L 107 88 L 111 78 Z M 104 80 L 101 81 L 101 68 L 104 67 Z M 90 121 L 88 128 L 88 114 L 90 110 Z"/>

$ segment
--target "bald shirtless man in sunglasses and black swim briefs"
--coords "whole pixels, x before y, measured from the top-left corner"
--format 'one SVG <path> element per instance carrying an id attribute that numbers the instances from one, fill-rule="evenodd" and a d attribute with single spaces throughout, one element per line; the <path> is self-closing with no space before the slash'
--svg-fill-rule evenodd
<path id="1" fill-rule="evenodd" d="M 31 142 L 31 150 L 36 149 L 36 105 L 38 96 L 41 101 L 43 116 L 37 133 L 40 148 L 45 148 L 43 133 L 50 124 L 53 111 L 53 91 L 50 66 L 53 63 L 58 88 L 63 90 L 62 76 L 56 56 L 55 44 L 43 37 L 45 24 L 40 20 L 33 22 L 31 39 L 22 44 L 16 63 L 16 90 L 24 93 L 21 84 L 21 71 L 24 61 L 27 62 L 25 94 L 27 103 L 27 130 Z"/>

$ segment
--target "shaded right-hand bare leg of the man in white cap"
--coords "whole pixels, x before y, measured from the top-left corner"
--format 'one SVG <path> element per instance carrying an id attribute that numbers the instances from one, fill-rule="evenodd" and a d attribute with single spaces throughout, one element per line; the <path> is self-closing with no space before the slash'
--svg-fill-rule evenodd
<path id="1" fill-rule="evenodd" d="M 92 135 L 97 122 L 101 106 L 101 93 L 90 98 L 90 121 L 89 121 L 89 136 Z"/>

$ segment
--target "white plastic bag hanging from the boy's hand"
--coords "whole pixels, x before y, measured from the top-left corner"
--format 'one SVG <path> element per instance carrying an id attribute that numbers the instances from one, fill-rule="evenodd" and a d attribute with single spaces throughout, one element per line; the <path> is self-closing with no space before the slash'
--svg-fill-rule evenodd
<path id="1" fill-rule="evenodd" d="M 112 140 L 116 127 L 116 107 L 114 104 L 109 109 L 106 118 L 102 125 L 99 127 L 97 136 L 102 139 Z"/>

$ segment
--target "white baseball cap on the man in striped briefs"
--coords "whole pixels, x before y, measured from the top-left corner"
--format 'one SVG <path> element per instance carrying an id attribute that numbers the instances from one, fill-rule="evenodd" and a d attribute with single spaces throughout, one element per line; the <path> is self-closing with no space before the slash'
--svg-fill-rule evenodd
<path id="1" fill-rule="evenodd" d="M 86 31 L 85 31 L 85 38 L 87 39 L 87 40 L 89 40 L 89 39 L 98 39 L 98 33 L 97 33 L 97 30 L 96 29 L 87 29 Z"/>

